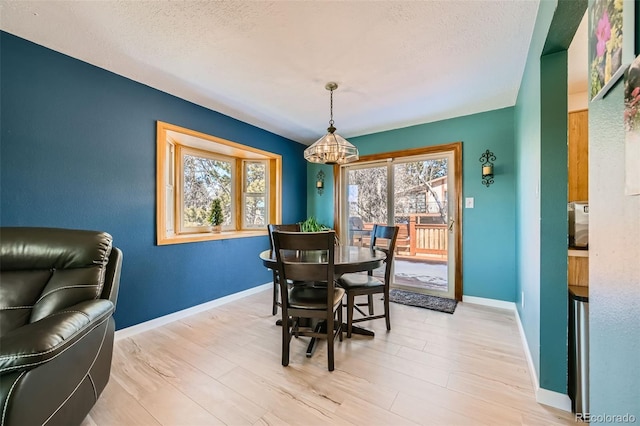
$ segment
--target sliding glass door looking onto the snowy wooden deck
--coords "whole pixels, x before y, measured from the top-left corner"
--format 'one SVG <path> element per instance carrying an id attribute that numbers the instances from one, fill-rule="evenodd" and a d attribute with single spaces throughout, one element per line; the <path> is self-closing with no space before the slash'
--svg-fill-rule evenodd
<path id="1" fill-rule="evenodd" d="M 341 238 L 368 246 L 374 224 L 400 227 L 394 287 L 455 298 L 459 194 L 454 152 L 341 167 Z"/>

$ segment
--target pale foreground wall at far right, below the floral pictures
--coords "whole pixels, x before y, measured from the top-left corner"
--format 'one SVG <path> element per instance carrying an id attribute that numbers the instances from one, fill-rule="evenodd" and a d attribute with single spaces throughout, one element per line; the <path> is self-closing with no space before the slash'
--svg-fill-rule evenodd
<path id="1" fill-rule="evenodd" d="M 637 3 L 635 18 L 637 54 Z M 620 80 L 603 99 L 589 104 L 590 411 L 594 415 L 628 414 L 635 416 L 637 424 L 640 195 L 623 192 L 626 154 Z"/>

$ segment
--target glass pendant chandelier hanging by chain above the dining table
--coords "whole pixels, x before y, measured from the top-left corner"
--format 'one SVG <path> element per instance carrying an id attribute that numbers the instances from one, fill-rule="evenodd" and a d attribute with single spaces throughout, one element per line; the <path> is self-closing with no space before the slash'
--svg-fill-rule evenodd
<path id="1" fill-rule="evenodd" d="M 338 88 L 334 82 L 324 86 L 331 92 L 331 119 L 327 134 L 318 139 L 309 148 L 304 150 L 304 159 L 311 163 L 345 164 L 358 160 L 358 148 L 336 133 L 333 127 L 333 91 Z"/>

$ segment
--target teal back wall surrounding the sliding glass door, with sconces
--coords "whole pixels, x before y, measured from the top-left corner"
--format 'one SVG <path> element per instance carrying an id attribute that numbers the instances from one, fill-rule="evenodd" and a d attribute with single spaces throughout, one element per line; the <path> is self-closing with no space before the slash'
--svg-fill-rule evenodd
<path id="1" fill-rule="evenodd" d="M 515 167 L 514 109 L 504 108 L 450 120 L 349 138 L 361 155 L 442 145 L 462 141 L 463 198 L 473 197 L 475 208 L 463 209 L 463 294 L 515 301 Z M 482 185 L 480 155 L 496 155 L 495 183 Z M 308 166 L 312 188 L 319 166 Z M 308 197 L 308 213 L 333 223 L 333 172 L 322 196 Z"/>

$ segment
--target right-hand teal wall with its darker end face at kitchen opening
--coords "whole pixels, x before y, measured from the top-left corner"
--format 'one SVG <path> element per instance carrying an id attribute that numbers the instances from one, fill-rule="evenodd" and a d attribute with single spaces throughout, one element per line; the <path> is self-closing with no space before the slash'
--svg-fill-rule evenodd
<path id="1" fill-rule="evenodd" d="M 566 28 L 578 26 L 584 7 L 540 3 L 515 107 L 516 305 L 538 384 L 558 394 L 567 393 L 568 356 Z"/>

